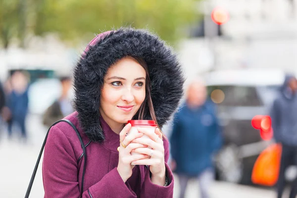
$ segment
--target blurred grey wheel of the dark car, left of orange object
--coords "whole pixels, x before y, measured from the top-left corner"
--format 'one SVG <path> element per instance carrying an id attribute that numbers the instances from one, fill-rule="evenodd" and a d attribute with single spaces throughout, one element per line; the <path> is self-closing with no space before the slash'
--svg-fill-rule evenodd
<path id="1" fill-rule="evenodd" d="M 223 147 L 215 157 L 219 180 L 240 183 L 243 177 L 243 163 L 236 145 Z"/>

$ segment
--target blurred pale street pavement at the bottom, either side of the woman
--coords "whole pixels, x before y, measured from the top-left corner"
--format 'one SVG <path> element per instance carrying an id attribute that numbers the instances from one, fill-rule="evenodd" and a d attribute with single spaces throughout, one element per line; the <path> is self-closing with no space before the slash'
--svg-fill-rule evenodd
<path id="1" fill-rule="evenodd" d="M 43 143 L 46 129 L 40 124 L 38 116 L 27 119 L 30 140 L 24 144 L 17 139 L 8 141 L 6 134 L 1 135 L 0 153 L 2 155 L 0 168 L 0 195 L 1 198 L 22 198 L 25 196 L 38 153 Z M 3 156 L 4 155 L 4 156 Z M 44 195 L 41 165 L 31 191 L 30 198 L 41 198 Z M 174 198 L 178 198 L 178 178 Z M 212 198 L 274 198 L 273 190 L 235 185 L 224 182 L 215 182 L 210 188 Z M 196 181 L 189 183 L 186 198 L 198 198 L 198 184 Z"/>

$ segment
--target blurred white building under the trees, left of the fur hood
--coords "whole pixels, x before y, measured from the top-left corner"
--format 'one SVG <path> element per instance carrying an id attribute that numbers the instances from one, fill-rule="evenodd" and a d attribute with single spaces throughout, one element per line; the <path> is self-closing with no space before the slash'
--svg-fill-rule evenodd
<path id="1" fill-rule="evenodd" d="M 11 71 L 18 69 L 30 70 L 34 75 L 39 73 L 40 77 L 52 76 L 52 72 L 55 75 L 69 75 L 77 54 L 54 35 L 32 37 L 26 49 L 13 45 L 7 50 L 0 49 L 0 80 L 5 80 Z"/>

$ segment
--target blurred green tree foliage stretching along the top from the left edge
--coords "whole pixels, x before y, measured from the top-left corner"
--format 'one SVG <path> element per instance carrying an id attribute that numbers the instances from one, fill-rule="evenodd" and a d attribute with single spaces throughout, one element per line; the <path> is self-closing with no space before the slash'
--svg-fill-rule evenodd
<path id="1" fill-rule="evenodd" d="M 25 47 L 28 33 L 58 33 L 61 39 L 90 40 L 94 33 L 129 26 L 148 28 L 174 43 L 198 20 L 199 0 L 0 0 L 0 37 Z"/>

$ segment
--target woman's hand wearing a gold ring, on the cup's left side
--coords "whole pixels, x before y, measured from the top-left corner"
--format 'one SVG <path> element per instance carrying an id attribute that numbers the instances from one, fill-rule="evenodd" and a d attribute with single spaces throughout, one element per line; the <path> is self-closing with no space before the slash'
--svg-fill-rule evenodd
<path id="1" fill-rule="evenodd" d="M 132 169 L 135 165 L 131 165 L 132 161 L 147 158 L 146 154 L 137 154 L 131 155 L 130 152 L 136 148 L 145 148 L 146 145 L 142 145 L 139 143 L 131 143 L 136 138 L 142 137 L 143 133 L 132 133 L 126 136 L 126 134 L 131 129 L 131 124 L 127 124 L 123 130 L 120 132 L 120 148 L 119 150 L 119 163 L 117 166 L 117 170 L 123 179 L 126 182 L 132 175 Z M 123 146 L 124 145 L 124 146 Z"/>

